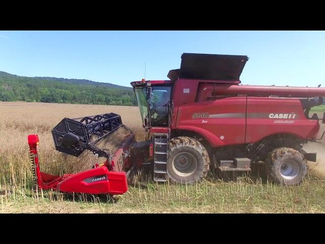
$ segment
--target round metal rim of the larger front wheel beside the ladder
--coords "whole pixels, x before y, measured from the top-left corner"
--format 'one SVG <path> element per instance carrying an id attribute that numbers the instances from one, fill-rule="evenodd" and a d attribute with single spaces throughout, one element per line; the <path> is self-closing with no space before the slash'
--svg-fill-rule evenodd
<path id="1" fill-rule="evenodd" d="M 192 175 L 198 168 L 197 159 L 190 153 L 179 153 L 173 159 L 172 168 L 178 176 L 186 177 Z"/>

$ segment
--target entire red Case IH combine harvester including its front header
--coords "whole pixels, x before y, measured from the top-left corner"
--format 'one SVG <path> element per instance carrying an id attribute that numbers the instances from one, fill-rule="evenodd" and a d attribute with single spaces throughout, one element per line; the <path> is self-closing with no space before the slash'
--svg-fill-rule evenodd
<path id="1" fill-rule="evenodd" d="M 55 147 L 78 157 L 90 150 L 106 158 L 102 164 L 76 174 L 50 175 L 40 171 L 37 135 L 29 135 L 30 158 L 39 189 L 90 194 L 123 194 L 132 170 L 151 166 L 153 180 L 191 183 L 219 171 L 250 171 L 265 165 L 268 177 L 285 185 L 299 184 L 307 160 L 315 153 L 302 150 L 316 141 L 317 114 L 325 89 L 241 85 L 247 56 L 182 55 L 181 67 L 170 80 L 135 81 L 144 130 L 151 139 L 134 141 L 118 114 L 64 118 L 52 130 Z M 324 123 L 324 118 L 323 123 Z M 129 131 L 115 153 L 96 144 L 123 127 Z"/>

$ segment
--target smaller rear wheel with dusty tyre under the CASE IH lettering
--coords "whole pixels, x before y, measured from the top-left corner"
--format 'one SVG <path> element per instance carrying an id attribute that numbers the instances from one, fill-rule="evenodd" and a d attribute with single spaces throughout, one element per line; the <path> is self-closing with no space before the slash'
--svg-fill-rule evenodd
<path id="1" fill-rule="evenodd" d="M 271 181 L 277 184 L 298 185 L 306 176 L 307 170 L 307 160 L 293 148 L 276 148 L 266 160 L 266 172 Z"/>

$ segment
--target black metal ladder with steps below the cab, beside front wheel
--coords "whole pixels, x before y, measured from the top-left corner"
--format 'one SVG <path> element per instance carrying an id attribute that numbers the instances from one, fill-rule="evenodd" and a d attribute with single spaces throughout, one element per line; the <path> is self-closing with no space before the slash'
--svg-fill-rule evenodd
<path id="1" fill-rule="evenodd" d="M 153 140 L 153 180 L 157 182 L 165 182 L 167 174 L 169 134 L 155 133 L 153 135 Z"/>

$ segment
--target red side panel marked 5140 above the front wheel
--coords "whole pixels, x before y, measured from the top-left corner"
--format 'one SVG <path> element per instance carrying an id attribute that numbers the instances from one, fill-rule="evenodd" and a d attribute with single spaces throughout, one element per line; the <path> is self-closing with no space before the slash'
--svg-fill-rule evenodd
<path id="1" fill-rule="evenodd" d="M 176 129 L 201 134 L 212 146 L 245 141 L 246 97 L 226 98 L 178 107 Z"/>

